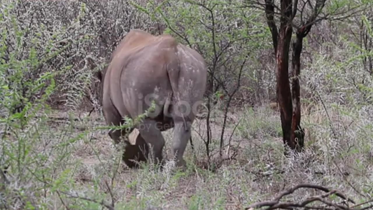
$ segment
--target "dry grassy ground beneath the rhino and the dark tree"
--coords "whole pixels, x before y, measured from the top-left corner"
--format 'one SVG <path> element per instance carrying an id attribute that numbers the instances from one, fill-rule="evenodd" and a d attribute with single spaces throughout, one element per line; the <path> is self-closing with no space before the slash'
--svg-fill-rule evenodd
<path id="1" fill-rule="evenodd" d="M 87 112 L 76 113 L 75 116 L 79 114 L 84 116 Z M 220 111 L 214 111 L 212 120 L 214 151 L 217 151 L 220 137 L 219 114 Z M 54 115 L 67 117 L 66 113 L 58 111 Z M 333 116 L 334 124 L 349 120 L 347 117 L 338 117 L 337 112 L 330 111 L 329 115 Z M 70 154 L 63 164 L 65 168 L 57 167 L 59 171 L 55 172 L 56 177 L 69 169 L 68 176 L 73 180 L 67 184 L 69 189 L 83 193 L 87 198 L 101 195 L 107 198 L 107 203 L 111 203 L 111 191 L 118 209 L 243 209 L 253 202 L 270 199 L 277 192 L 297 183 L 336 188 L 352 198 L 363 198 L 362 194 L 367 197 L 372 195 L 372 151 L 366 148 L 372 146 L 372 139 L 361 136 L 363 133 L 358 130 L 361 124 L 351 124 L 345 130 L 344 138 L 335 139 L 321 108 L 304 115 L 306 150 L 285 158 L 279 116 L 270 105 L 231 112 L 225 139 L 229 139 L 239 117 L 243 119 L 232 137 L 233 146 L 240 143 L 237 160 L 225 162 L 215 172 L 198 166 L 198 161 L 205 158 L 201 140 L 206 138 L 206 134 L 201 133 L 206 126 L 204 120 L 195 122 L 192 136 L 197 160 L 194 160 L 189 145 L 185 152 L 188 164 L 185 171 L 175 170 L 172 162 L 167 162 L 163 171 L 149 164 L 144 164 L 141 169 L 128 169 L 123 163 L 118 166 L 116 163 L 120 160 L 120 152 L 113 146 L 106 131 L 94 131 L 95 126 L 104 125 L 103 117 L 97 113 L 82 121 L 75 121 L 73 126 L 67 121 L 54 121 L 49 124 L 49 129 L 54 132 L 52 145 L 61 141 L 57 133 L 69 130 L 71 139 L 83 130 L 87 131 L 82 139 L 71 143 Z M 163 134 L 167 141 L 167 155 L 172 130 Z M 51 155 L 50 158 L 56 156 Z M 116 172 L 115 176 L 113 172 Z M 291 199 L 301 200 L 314 193 L 300 190 Z M 79 206 L 94 208 L 81 200 L 68 197 L 63 200 L 65 204 L 50 192 L 44 202 L 49 208 L 55 209 L 73 204 L 77 206 L 70 206 L 70 209 L 79 209 Z"/>

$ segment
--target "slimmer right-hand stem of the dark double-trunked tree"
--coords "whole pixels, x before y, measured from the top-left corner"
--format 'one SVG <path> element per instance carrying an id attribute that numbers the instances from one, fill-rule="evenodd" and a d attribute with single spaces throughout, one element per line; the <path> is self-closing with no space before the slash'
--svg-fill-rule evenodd
<path id="1" fill-rule="evenodd" d="M 301 151 L 304 146 L 304 130 L 301 123 L 301 102 L 300 102 L 300 57 L 303 48 L 303 35 L 298 34 L 292 43 L 292 104 L 294 105 L 291 123 L 291 142 L 295 144 L 295 149 Z"/>

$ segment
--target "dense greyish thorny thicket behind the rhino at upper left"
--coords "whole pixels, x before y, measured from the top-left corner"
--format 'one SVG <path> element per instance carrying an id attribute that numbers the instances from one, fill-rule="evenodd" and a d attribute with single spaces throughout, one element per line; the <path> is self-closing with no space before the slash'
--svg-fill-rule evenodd
<path id="1" fill-rule="evenodd" d="M 61 51 L 30 67 L 25 74 L 25 82 L 45 72 L 58 72 L 55 81 L 59 91 L 53 94 L 50 103 L 64 105 L 65 108 L 76 108 L 86 99 L 98 104 L 93 68 L 103 68 L 116 44 L 132 28 L 154 31 L 155 23 L 124 0 L 22 0 L 2 3 L 4 6 L 14 4 L 13 9 L 7 12 L 15 18 L 17 28 L 25 30 L 19 40 L 12 35 L 1 36 L 8 50 L 4 61 L 7 62 L 10 53 L 16 49 L 19 49 L 16 54 L 19 60 L 27 58 L 30 53 L 35 53 L 36 59 L 40 59 L 47 52 Z M 11 19 L 1 24 L 5 31 L 13 27 Z M 21 48 L 17 48 L 19 44 Z M 34 97 L 37 96 L 28 98 L 31 100 Z"/>

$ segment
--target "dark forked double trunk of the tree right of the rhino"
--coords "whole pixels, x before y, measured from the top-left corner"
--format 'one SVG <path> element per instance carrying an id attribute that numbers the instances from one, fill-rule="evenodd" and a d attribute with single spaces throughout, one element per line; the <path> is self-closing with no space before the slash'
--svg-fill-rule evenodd
<path id="1" fill-rule="evenodd" d="M 247 0 L 249 4 L 263 6 L 257 0 Z M 303 1 L 303 9 L 309 6 L 313 12 L 308 15 L 308 18 L 303 19 L 305 14 L 303 9 L 299 9 L 298 0 L 279 0 L 280 8 L 275 5 L 275 0 L 265 0 L 264 11 L 267 18 L 267 24 L 271 31 L 273 49 L 276 55 L 277 65 L 277 100 L 280 109 L 281 127 L 283 132 L 283 143 L 295 151 L 302 151 L 304 146 L 304 130 L 300 126 L 301 122 L 301 102 L 300 102 L 300 56 L 303 49 L 303 38 L 310 32 L 312 25 L 323 20 L 317 19 L 320 12 L 325 6 L 326 0 L 316 0 L 313 3 Z M 278 1 L 277 1 L 278 2 Z M 280 17 L 280 27 L 276 26 L 275 8 L 278 9 L 277 14 Z M 293 22 L 297 12 L 301 12 L 301 25 L 295 25 Z M 304 20 L 307 20 L 304 22 Z M 292 43 L 292 87 L 290 89 L 288 69 L 289 69 L 289 47 L 293 27 L 296 29 L 295 41 Z M 371 64 L 372 66 L 372 64 Z M 370 67 L 373 68 L 373 67 Z M 372 72 L 372 71 L 371 71 Z M 373 73 L 373 72 L 372 72 Z M 293 110 L 294 106 L 294 110 Z M 288 152 L 285 150 L 285 155 Z"/>

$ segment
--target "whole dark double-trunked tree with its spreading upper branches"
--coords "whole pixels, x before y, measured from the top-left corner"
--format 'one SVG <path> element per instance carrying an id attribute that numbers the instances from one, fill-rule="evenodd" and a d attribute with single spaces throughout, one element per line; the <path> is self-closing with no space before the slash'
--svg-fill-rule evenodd
<path id="1" fill-rule="evenodd" d="M 322 20 L 348 18 L 359 6 L 350 2 L 332 1 L 328 13 L 323 13 L 328 0 L 246 0 L 247 6 L 264 10 L 272 34 L 276 55 L 277 100 L 279 104 L 283 142 L 289 148 L 302 151 L 304 129 L 301 127 L 300 65 L 303 38 L 311 27 Z M 279 16 L 279 28 L 276 24 Z M 291 44 L 292 35 L 295 34 Z M 291 83 L 289 81 L 289 52 L 292 47 Z M 291 85 L 290 85 L 291 84 Z"/>

